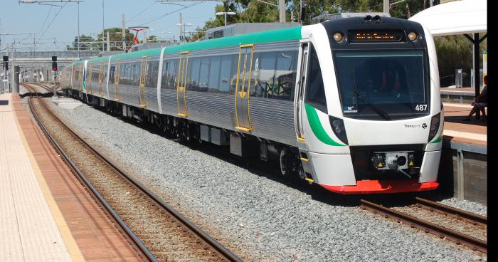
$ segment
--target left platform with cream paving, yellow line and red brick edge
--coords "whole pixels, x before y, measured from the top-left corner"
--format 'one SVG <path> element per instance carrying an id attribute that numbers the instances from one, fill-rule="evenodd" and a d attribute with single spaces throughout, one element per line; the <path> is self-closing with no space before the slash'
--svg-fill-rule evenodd
<path id="1" fill-rule="evenodd" d="M 18 94 L 0 95 L 0 261 L 142 261 Z"/>

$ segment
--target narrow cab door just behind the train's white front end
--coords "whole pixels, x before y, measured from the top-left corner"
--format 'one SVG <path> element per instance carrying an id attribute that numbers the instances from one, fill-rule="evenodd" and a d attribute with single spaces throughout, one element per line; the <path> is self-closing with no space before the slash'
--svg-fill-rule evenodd
<path id="1" fill-rule="evenodd" d="M 309 43 L 301 42 L 300 44 L 300 57 L 298 58 L 297 83 L 294 101 L 294 119 L 296 128 L 297 142 L 304 143 L 304 133 L 302 126 L 303 110 L 304 110 L 304 90 L 306 89 L 306 77 L 308 72 L 308 48 Z"/>

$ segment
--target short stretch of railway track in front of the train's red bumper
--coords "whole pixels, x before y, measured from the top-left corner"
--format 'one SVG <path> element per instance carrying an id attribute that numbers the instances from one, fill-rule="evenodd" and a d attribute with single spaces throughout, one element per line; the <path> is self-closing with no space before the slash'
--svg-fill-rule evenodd
<path id="1" fill-rule="evenodd" d="M 486 217 L 420 197 L 415 197 L 413 201 L 415 204 L 390 208 L 361 199 L 361 208 L 421 229 L 425 233 L 435 234 L 440 239 L 449 239 L 457 245 L 462 244 L 487 253 Z"/>

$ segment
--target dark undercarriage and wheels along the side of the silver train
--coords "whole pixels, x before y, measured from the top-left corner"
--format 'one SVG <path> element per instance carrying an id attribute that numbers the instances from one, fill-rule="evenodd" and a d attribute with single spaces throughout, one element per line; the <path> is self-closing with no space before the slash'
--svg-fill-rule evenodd
<path id="1" fill-rule="evenodd" d="M 220 147 L 226 147 L 231 154 L 238 155 L 245 162 L 255 159 L 260 159 L 263 162 L 277 162 L 280 167 L 280 174 L 285 176 L 298 175 L 301 179 L 306 179 L 307 177 L 304 173 L 300 152 L 297 147 L 181 117 L 161 115 L 158 112 L 106 100 L 78 90 L 65 89 L 63 91 L 68 97 L 81 100 L 83 103 L 92 105 L 110 115 L 153 125 L 161 130 L 161 133 L 167 138 L 179 139 L 191 145 L 208 142 Z"/>

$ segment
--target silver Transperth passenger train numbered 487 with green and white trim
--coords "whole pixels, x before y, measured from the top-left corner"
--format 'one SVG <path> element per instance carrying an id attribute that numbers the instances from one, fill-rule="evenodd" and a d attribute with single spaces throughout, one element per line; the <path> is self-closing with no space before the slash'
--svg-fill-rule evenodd
<path id="1" fill-rule="evenodd" d="M 78 61 L 68 95 L 341 194 L 438 187 L 433 37 L 366 16 Z"/>

